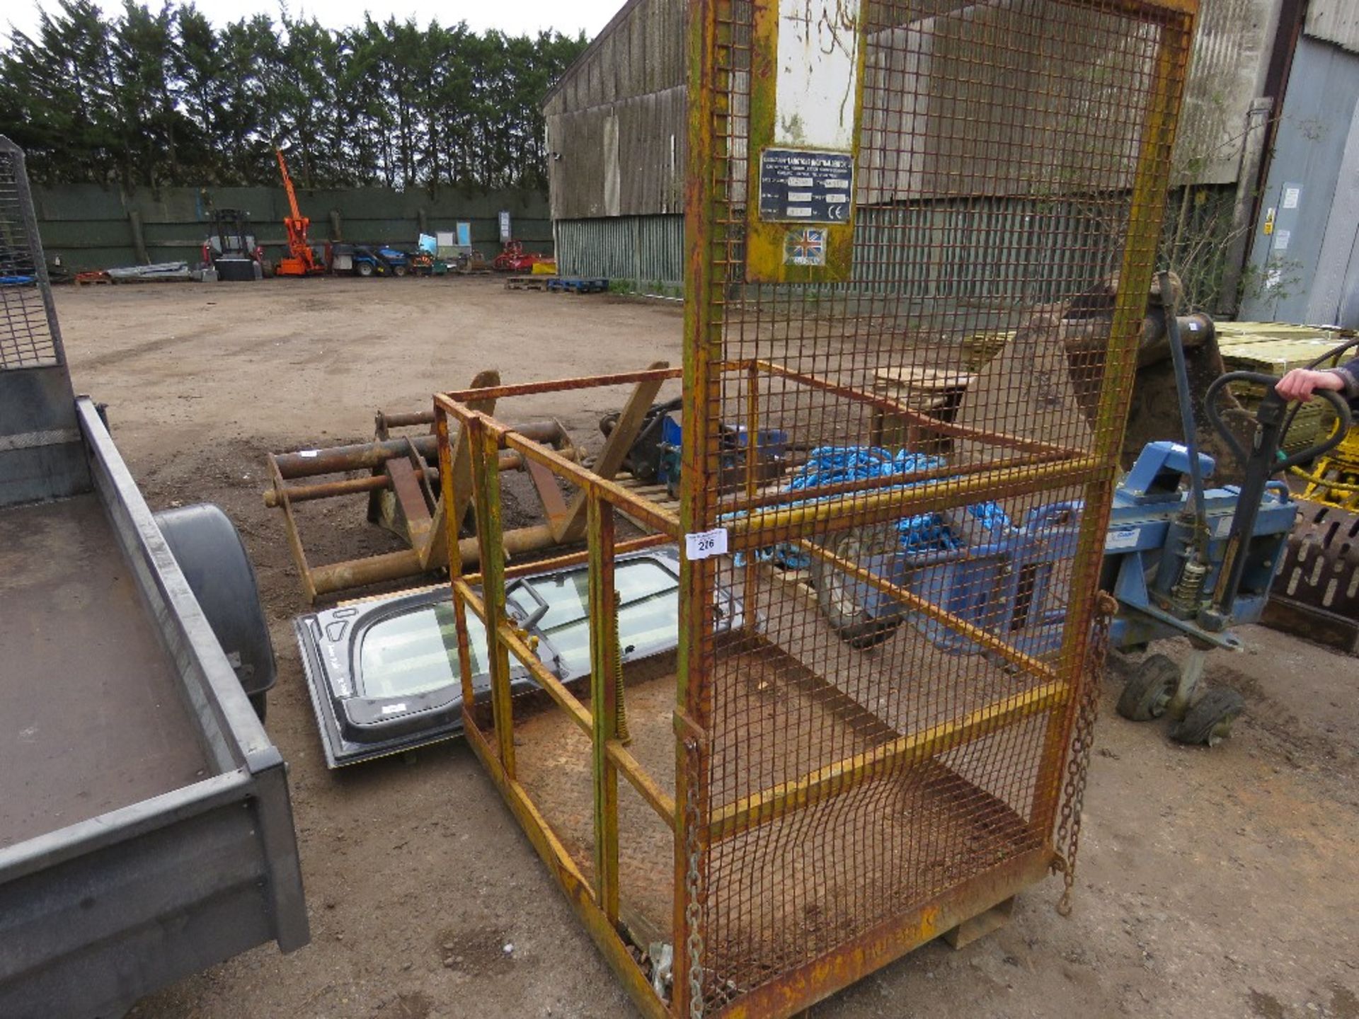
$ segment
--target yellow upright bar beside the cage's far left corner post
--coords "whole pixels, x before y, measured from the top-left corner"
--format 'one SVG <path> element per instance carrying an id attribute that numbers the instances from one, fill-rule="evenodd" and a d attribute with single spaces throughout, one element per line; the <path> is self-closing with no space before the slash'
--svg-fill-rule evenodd
<path id="1" fill-rule="evenodd" d="M 510 652 L 500 634 L 506 621 L 506 550 L 500 522 L 500 469 L 496 457 L 500 442 L 485 427 L 485 417 L 467 421 L 472 447 L 473 488 L 477 507 L 477 541 L 481 545 L 481 575 L 485 577 L 482 598 L 487 624 L 488 671 L 491 673 L 491 713 L 495 719 L 496 745 L 506 774 L 515 777 L 514 704 L 510 698 Z"/>

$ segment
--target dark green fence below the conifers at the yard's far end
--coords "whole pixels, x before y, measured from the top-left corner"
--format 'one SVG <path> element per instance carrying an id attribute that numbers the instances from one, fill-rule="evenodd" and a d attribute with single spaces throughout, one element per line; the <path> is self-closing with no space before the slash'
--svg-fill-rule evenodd
<path id="1" fill-rule="evenodd" d="M 136 265 L 129 221 L 133 212 L 141 217 L 154 262 L 197 261 L 213 205 L 247 211 L 270 255 L 280 254 L 287 240 L 283 217 L 288 198 L 281 187 L 162 187 L 125 194 L 98 185 L 61 185 L 34 189 L 34 200 L 43 247 L 49 255 L 60 254 L 73 270 Z M 472 243 L 491 255 L 500 250 L 499 213 L 508 209 L 515 236 L 529 250 L 552 250 L 546 196 L 535 192 L 299 189 L 298 204 L 311 219 L 314 240 L 334 239 L 330 235 L 334 209 L 345 240 L 414 245 L 424 213 L 429 231 L 453 230 L 458 220 L 470 221 Z"/>

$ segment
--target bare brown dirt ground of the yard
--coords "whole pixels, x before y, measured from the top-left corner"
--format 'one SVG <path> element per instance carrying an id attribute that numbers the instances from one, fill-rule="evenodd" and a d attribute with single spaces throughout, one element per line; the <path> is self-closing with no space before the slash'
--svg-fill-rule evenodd
<path id="1" fill-rule="evenodd" d="M 302 951 L 247 952 L 135 1015 L 632 1015 L 462 745 L 326 770 L 289 629 L 306 606 L 260 492 L 268 451 L 363 439 L 374 409 L 427 406 L 481 368 L 529 380 L 678 363 L 678 306 L 489 280 L 68 288 L 57 304 L 76 386 L 109 404 L 152 507 L 216 501 L 243 533 L 279 652 L 268 728 L 291 765 L 311 914 Z M 522 417 L 588 431 L 614 402 L 546 397 Z M 307 524 L 319 560 L 390 548 L 361 503 Z M 1246 636 L 1248 654 L 1208 670 L 1249 705 L 1214 750 L 1117 717 L 1110 681 L 1071 918 L 1049 879 L 1002 931 L 928 946 L 811 1015 L 1359 1019 L 1359 663 Z"/>

